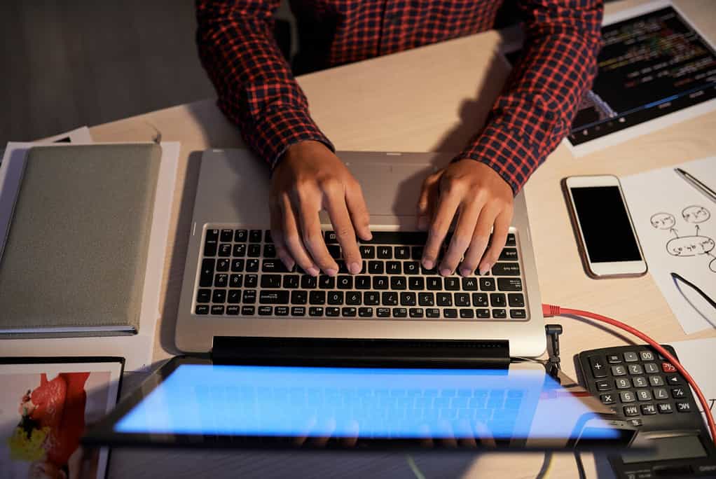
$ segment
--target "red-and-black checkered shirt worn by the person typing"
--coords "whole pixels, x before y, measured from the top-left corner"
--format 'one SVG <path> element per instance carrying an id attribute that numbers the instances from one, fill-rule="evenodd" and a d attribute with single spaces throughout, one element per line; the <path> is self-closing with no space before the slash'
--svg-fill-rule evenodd
<path id="1" fill-rule="evenodd" d="M 302 140 L 332 143 L 273 38 L 280 0 L 196 0 L 200 58 L 218 106 L 273 167 Z M 316 64 L 332 67 L 493 28 L 502 0 L 293 0 Z M 569 133 L 596 74 L 603 0 L 518 0 L 521 60 L 455 160 L 490 165 L 517 193 Z M 446 86 L 447 87 L 447 86 Z"/>

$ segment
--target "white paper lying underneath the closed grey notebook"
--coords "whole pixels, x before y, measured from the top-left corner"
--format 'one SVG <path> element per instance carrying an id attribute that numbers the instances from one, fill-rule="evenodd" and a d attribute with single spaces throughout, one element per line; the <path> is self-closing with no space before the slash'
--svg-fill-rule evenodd
<path id="1" fill-rule="evenodd" d="M 160 294 L 180 147 L 178 142 L 163 142 L 161 145 L 162 159 L 155 193 L 139 332 L 132 336 L 0 339 L 0 356 L 120 356 L 126 359 L 127 371 L 150 366 L 160 316 Z M 10 158 L 16 150 L 27 150 L 32 146 L 33 143 L 10 142 L 4 158 Z"/>

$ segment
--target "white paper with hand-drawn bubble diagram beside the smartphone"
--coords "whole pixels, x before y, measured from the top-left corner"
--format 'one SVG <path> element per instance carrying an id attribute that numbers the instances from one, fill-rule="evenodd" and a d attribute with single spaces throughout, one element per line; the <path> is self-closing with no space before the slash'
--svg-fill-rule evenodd
<path id="1" fill-rule="evenodd" d="M 716 328 L 716 308 L 672 272 L 716 301 L 716 203 L 681 178 L 682 168 L 716 190 L 716 157 L 621 178 L 649 272 L 684 329 Z"/>

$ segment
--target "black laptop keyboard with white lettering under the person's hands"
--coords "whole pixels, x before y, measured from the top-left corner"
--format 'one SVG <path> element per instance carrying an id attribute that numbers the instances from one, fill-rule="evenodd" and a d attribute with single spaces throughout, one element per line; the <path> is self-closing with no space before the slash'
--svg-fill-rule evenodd
<path id="1" fill-rule="evenodd" d="M 360 241 L 360 274 L 348 273 L 335 233 L 326 246 L 337 276 L 289 271 L 276 256 L 271 232 L 208 226 L 204 231 L 193 311 L 212 316 L 311 319 L 453 319 L 526 321 L 521 253 L 509 233 L 485 275 L 443 277 L 420 264 L 427 233 L 373 231 Z M 446 238 L 444 245 L 450 243 Z"/>

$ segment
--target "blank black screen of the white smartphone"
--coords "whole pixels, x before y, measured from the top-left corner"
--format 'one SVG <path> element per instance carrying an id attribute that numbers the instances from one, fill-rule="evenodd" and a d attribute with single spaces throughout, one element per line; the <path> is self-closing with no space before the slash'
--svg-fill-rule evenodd
<path id="1" fill-rule="evenodd" d="M 591 263 L 642 261 L 619 186 L 571 188 Z"/>

